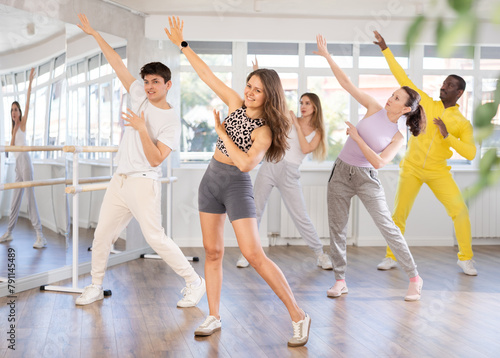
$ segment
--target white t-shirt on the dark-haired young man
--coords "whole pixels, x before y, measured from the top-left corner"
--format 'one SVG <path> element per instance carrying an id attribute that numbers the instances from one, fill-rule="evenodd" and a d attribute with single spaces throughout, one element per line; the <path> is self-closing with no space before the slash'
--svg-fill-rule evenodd
<path id="1" fill-rule="evenodd" d="M 144 85 L 139 80 L 132 83 L 129 94 L 132 111 L 138 116 L 144 112 L 146 127 L 153 143 L 156 145 L 157 141 L 160 141 L 172 150 L 177 149 L 180 142 L 181 122 L 175 111 L 172 108 L 161 109 L 149 103 Z M 118 174 L 145 174 L 145 177 L 154 179 L 160 179 L 162 176 L 161 166 L 152 167 L 149 164 L 139 132 L 132 127 L 125 127 L 116 163 Z"/>

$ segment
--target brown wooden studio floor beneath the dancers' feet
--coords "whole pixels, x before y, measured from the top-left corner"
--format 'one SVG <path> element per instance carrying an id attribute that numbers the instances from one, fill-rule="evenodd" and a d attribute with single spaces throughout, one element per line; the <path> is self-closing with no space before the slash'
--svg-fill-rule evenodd
<path id="1" fill-rule="evenodd" d="M 252 268 L 235 267 L 236 249 L 224 259 L 223 328 L 207 338 L 193 336 L 206 298 L 176 308 L 182 279 L 160 260 L 138 259 L 110 268 L 104 286 L 113 295 L 89 306 L 75 307 L 73 294 L 19 293 L 15 352 L 7 348 L 9 298 L 0 298 L 0 357 L 499 357 L 500 246 L 474 250 L 477 277 L 461 272 L 456 248 L 412 248 L 424 286 L 410 303 L 402 270 L 375 268 L 384 248 L 348 248 L 349 294 L 337 299 L 326 297 L 332 271 L 317 268 L 310 250 L 266 249 L 312 318 L 301 348 L 287 347 L 284 306 Z M 200 257 L 193 265 L 203 273 L 202 249 L 183 251 Z"/>

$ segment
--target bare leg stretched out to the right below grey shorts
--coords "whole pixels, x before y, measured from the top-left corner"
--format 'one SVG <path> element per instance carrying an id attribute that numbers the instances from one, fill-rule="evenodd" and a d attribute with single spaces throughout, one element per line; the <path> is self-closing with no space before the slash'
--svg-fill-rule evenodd
<path id="1" fill-rule="evenodd" d="M 253 218 L 239 219 L 233 221 L 232 225 L 243 256 L 245 256 L 250 265 L 252 265 L 257 273 L 267 282 L 269 287 L 271 287 L 274 293 L 276 293 L 279 299 L 285 304 L 292 321 L 298 322 L 303 320 L 305 317 L 304 311 L 297 305 L 283 272 L 281 272 L 280 268 L 271 261 L 264 253 L 264 250 L 262 250 L 257 229 L 257 220 Z"/>

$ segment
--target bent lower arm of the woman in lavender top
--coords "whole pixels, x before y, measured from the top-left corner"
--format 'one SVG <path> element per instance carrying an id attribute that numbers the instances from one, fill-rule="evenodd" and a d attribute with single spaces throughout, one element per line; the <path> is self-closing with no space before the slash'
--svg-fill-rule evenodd
<path id="1" fill-rule="evenodd" d="M 351 138 L 358 144 L 361 152 L 365 158 L 370 162 L 371 165 L 375 169 L 380 169 L 390 163 L 391 160 L 394 159 L 396 154 L 398 154 L 399 149 L 403 145 L 404 137 L 401 132 L 397 132 L 394 137 L 392 137 L 389 145 L 380 153 L 377 154 L 371 149 L 368 144 L 361 138 L 358 133 L 358 130 L 354 125 L 350 122 L 346 122 L 347 124 L 347 134 L 351 136 Z"/>

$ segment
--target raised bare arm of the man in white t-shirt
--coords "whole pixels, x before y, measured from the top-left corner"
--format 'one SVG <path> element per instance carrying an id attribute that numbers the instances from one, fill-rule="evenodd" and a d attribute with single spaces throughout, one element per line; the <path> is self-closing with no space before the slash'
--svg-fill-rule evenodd
<path id="1" fill-rule="evenodd" d="M 90 26 L 89 20 L 87 16 L 84 14 L 78 14 L 78 18 L 80 19 L 81 25 L 77 24 L 77 26 L 82 29 L 87 35 L 91 35 L 97 41 L 97 44 L 101 48 L 102 53 L 108 60 L 108 63 L 111 65 L 113 70 L 116 72 L 118 79 L 122 83 L 123 87 L 127 90 L 130 89 L 132 83 L 134 83 L 135 78 L 132 76 L 130 71 L 127 69 L 125 64 L 123 63 L 122 58 L 119 54 L 116 53 L 115 50 L 102 38 L 102 36 Z"/>

